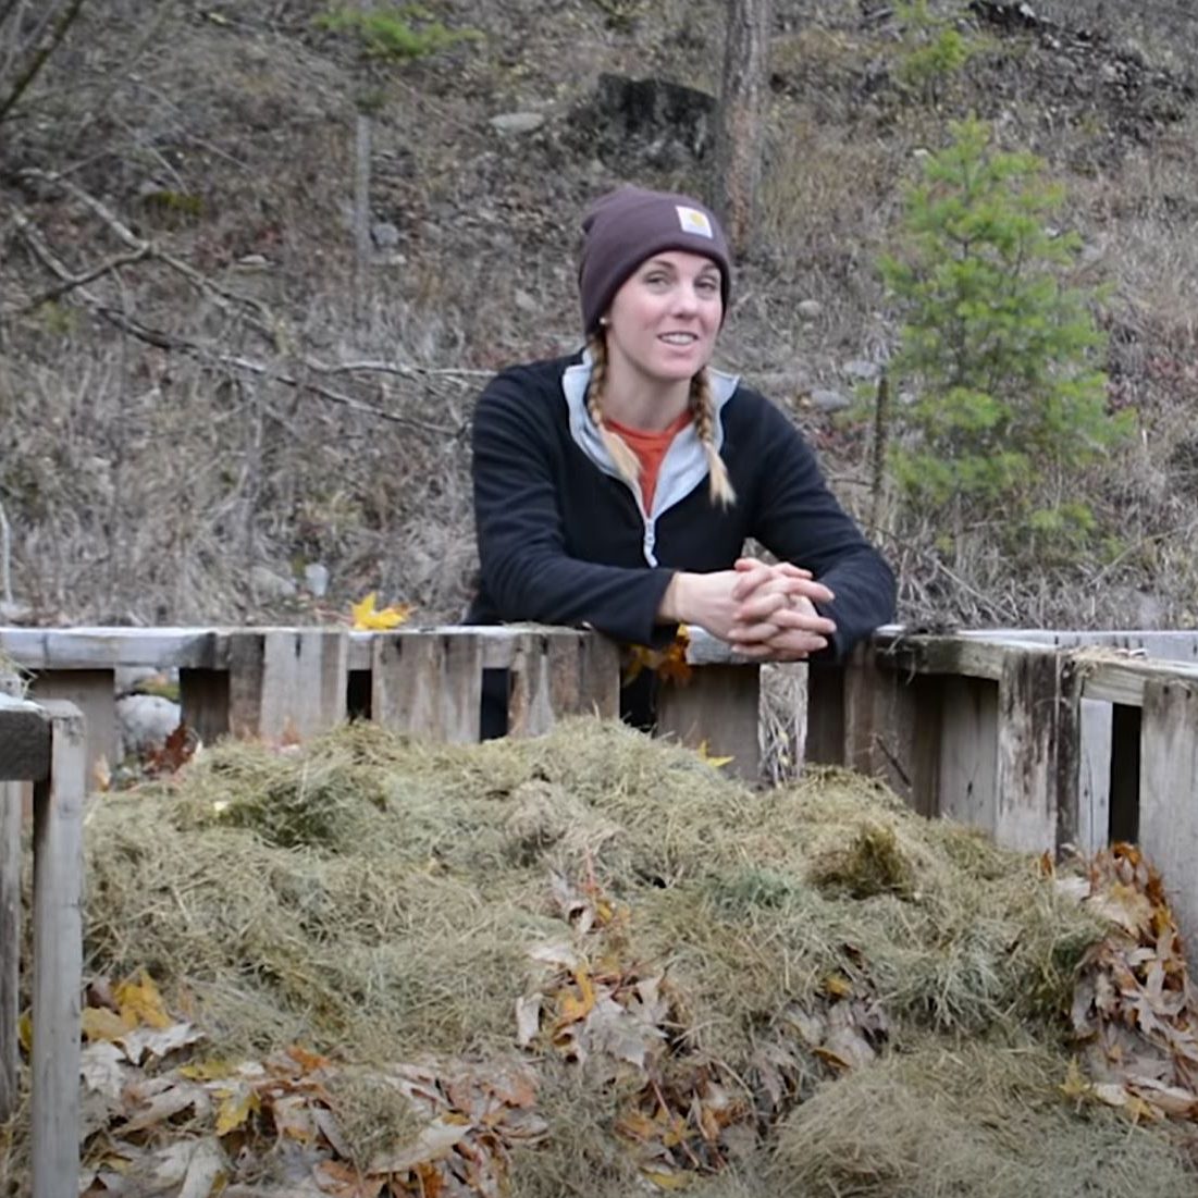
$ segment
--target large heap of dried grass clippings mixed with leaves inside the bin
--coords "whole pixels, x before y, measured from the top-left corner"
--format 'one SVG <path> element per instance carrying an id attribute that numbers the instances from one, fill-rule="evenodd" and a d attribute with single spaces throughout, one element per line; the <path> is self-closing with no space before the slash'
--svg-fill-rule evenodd
<path id="1" fill-rule="evenodd" d="M 1194 1185 L 1161 1125 L 1063 1093 L 1103 922 L 846 773 L 755 793 L 619 725 L 462 748 L 355 725 L 97 800 L 87 878 L 93 974 L 155 979 L 211 1059 L 292 1052 L 224 1135 L 250 1158 L 270 1095 L 290 1119 L 319 1091 L 321 1133 L 292 1136 L 313 1193 Z M 254 1157 L 261 1185 L 280 1168 Z"/>

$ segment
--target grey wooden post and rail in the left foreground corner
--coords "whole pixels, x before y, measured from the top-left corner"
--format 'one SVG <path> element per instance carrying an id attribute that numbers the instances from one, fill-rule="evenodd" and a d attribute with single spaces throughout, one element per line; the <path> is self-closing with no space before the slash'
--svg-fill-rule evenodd
<path id="1" fill-rule="evenodd" d="M 0 1120 L 18 1094 L 22 789 L 34 783 L 30 1119 L 34 1198 L 79 1187 L 85 734 L 71 703 L 0 689 Z"/>

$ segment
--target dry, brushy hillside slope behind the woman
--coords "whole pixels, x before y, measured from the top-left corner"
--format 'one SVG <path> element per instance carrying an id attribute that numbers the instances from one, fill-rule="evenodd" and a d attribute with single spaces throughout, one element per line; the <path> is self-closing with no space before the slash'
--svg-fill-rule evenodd
<path id="1" fill-rule="evenodd" d="M 23 618 L 308 619 L 373 588 L 456 618 L 470 406 L 502 363 L 577 343 L 587 198 L 624 180 L 708 193 L 716 0 L 444 0 L 477 36 L 386 69 L 319 24 L 328 7 L 85 4 L 0 126 L 0 600 Z M 903 613 L 1192 622 L 1193 23 L 1168 5 L 1117 28 L 1101 5 L 976 4 L 962 20 L 987 50 L 921 97 L 896 81 L 889 10 L 775 7 L 762 235 L 725 364 L 794 416 L 864 516 L 867 420 L 830 409 L 895 344 L 876 262 L 901 183 L 950 115 L 978 110 L 1067 184 L 1078 278 L 1111 288 L 1111 400 L 1140 436 L 1087 484 L 1118 543 L 1067 569 L 949 570 L 937 530 L 890 512 L 873 532 Z M 524 132 L 500 127 L 512 114 Z M 313 564 L 323 597 L 302 585 Z"/>

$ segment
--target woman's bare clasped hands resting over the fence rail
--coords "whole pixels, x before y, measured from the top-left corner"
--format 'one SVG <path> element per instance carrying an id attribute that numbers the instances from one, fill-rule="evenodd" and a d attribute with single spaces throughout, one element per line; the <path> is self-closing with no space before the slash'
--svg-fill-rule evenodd
<path id="1" fill-rule="evenodd" d="M 800 661 L 824 648 L 836 631 L 815 606 L 833 598 L 810 570 L 742 557 L 731 570 L 676 574 L 661 615 L 697 624 L 745 657 Z"/>

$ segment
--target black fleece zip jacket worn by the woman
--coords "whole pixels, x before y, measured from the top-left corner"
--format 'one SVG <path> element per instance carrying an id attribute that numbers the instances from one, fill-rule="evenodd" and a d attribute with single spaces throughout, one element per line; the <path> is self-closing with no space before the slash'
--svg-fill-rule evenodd
<path id="1" fill-rule="evenodd" d="M 585 623 L 619 641 L 660 645 L 674 631 L 657 621 L 673 573 L 728 569 L 749 537 L 835 593 L 819 605 L 837 629 L 822 657 L 842 657 L 893 618 L 890 568 L 773 404 L 738 385 L 720 409 L 720 452 L 736 503 L 713 504 L 703 478 L 651 521 L 628 483 L 601 470 L 571 432 L 562 380 L 579 361 L 513 367 L 478 400 L 473 479 L 482 576 L 468 623 Z"/>

